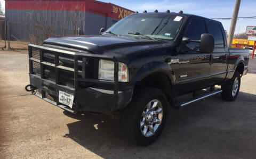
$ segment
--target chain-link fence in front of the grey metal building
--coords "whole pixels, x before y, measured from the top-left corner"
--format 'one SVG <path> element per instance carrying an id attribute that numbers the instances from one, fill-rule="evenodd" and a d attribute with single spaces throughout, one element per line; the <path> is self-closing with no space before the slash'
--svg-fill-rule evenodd
<path id="1" fill-rule="evenodd" d="M 79 28 L 57 28 L 19 22 L 7 22 L 6 28 L 8 49 L 27 49 L 28 43 L 42 45 L 43 41 L 50 37 L 58 38 L 81 34 Z"/>

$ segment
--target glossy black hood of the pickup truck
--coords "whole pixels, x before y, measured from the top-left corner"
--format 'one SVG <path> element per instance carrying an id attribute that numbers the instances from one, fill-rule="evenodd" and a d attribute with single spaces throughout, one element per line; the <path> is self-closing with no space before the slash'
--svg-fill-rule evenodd
<path id="1" fill-rule="evenodd" d="M 123 49 L 126 49 L 126 52 L 132 52 L 149 47 L 162 46 L 164 43 L 166 42 L 144 38 L 102 35 L 49 38 L 44 41 L 44 44 L 82 49 L 94 54 L 105 54 L 111 51 L 118 52 L 118 50 L 123 51 Z"/>

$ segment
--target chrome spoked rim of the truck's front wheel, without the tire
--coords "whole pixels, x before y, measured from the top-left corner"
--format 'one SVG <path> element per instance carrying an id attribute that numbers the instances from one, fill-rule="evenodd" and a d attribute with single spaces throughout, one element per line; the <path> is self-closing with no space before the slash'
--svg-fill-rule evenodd
<path id="1" fill-rule="evenodd" d="M 155 134 L 163 119 L 163 106 L 158 99 L 150 101 L 141 114 L 140 130 L 143 136 Z"/>

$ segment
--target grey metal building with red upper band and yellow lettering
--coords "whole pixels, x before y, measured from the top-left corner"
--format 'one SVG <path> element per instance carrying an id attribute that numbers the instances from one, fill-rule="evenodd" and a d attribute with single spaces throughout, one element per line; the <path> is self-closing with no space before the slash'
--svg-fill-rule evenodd
<path id="1" fill-rule="evenodd" d="M 48 37 L 99 34 L 134 13 L 94 0 L 5 0 L 10 39 L 42 41 Z"/>

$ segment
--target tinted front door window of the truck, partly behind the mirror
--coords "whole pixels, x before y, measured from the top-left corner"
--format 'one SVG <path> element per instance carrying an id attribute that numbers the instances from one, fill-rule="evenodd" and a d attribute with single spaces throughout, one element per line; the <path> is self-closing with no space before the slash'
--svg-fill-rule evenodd
<path id="1" fill-rule="evenodd" d="M 185 37 L 191 40 L 200 40 L 201 35 L 206 33 L 205 23 L 203 20 L 200 19 L 192 19 L 189 24 L 188 28 L 185 32 Z M 199 49 L 199 43 L 188 43 L 186 45 L 190 49 Z"/>

